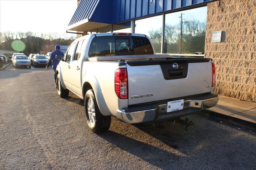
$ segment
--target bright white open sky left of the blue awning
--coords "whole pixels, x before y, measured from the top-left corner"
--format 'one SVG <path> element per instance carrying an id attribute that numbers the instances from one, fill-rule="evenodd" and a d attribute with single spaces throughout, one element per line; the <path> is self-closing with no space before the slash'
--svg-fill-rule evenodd
<path id="1" fill-rule="evenodd" d="M 0 32 L 56 32 L 64 36 L 77 0 L 0 0 Z"/>

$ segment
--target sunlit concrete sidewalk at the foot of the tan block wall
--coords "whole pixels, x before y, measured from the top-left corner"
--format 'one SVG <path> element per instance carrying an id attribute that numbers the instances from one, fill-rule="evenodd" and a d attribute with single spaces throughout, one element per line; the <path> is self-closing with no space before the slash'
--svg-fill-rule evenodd
<path id="1" fill-rule="evenodd" d="M 256 123 L 256 103 L 220 95 L 219 97 L 218 104 L 207 110 Z"/>

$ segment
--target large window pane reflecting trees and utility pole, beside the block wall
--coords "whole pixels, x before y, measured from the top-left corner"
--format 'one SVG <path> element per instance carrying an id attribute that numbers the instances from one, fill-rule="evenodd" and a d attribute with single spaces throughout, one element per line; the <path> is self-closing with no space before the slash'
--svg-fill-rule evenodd
<path id="1" fill-rule="evenodd" d="M 207 6 L 166 14 L 163 52 L 204 53 L 206 14 Z"/>

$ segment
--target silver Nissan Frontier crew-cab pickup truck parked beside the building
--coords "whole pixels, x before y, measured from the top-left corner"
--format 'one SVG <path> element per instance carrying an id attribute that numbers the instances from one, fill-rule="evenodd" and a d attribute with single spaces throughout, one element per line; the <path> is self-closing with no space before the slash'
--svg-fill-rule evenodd
<path id="1" fill-rule="evenodd" d="M 84 100 L 88 126 L 108 130 L 111 116 L 126 123 L 162 121 L 213 107 L 218 95 L 208 58 L 155 54 L 142 34 L 102 33 L 76 39 L 57 71 L 60 97 Z"/>

